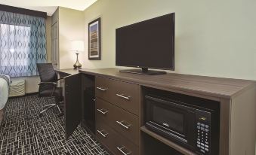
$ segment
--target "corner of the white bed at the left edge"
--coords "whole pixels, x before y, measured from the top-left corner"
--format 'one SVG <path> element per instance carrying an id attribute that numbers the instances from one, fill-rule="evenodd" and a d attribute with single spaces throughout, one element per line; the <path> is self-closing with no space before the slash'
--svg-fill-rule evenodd
<path id="1" fill-rule="evenodd" d="M 10 77 L 5 74 L 0 74 L 0 126 L 5 114 L 5 104 L 8 100 L 10 84 Z"/>

